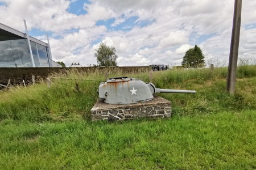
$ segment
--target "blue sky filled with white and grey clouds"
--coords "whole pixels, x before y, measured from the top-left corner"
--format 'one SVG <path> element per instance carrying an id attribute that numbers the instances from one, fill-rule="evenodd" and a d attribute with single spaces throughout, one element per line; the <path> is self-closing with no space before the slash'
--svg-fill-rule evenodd
<path id="1" fill-rule="evenodd" d="M 256 1 L 243 0 L 241 58 L 256 56 Z M 118 66 L 181 65 L 199 45 L 206 63 L 229 58 L 234 0 L 0 0 L 0 22 L 46 40 L 67 66 L 97 64 L 101 41 L 117 50 Z"/>

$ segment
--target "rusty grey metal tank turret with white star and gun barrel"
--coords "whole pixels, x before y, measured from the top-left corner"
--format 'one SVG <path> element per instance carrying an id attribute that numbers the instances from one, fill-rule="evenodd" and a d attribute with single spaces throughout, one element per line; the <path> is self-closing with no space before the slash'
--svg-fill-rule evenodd
<path id="1" fill-rule="evenodd" d="M 144 83 L 141 79 L 117 77 L 110 78 L 98 87 L 100 99 L 109 104 L 141 103 L 154 99 L 156 93 L 188 93 L 190 90 L 171 90 L 155 88 L 152 83 Z"/>

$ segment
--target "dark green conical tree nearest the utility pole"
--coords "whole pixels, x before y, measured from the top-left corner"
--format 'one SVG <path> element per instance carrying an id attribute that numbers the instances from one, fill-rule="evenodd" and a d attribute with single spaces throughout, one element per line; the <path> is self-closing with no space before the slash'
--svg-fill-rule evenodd
<path id="1" fill-rule="evenodd" d="M 186 68 L 197 68 L 204 67 L 204 63 L 204 54 L 200 47 L 195 45 L 194 48 L 187 50 L 185 56 L 183 57 L 183 62 L 181 63 L 181 65 Z"/>

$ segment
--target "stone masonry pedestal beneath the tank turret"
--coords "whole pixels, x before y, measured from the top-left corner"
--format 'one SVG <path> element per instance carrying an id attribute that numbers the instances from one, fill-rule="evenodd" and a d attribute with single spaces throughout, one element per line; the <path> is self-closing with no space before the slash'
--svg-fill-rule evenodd
<path id="1" fill-rule="evenodd" d="M 154 96 L 153 100 L 135 104 L 108 104 L 99 99 L 90 111 L 92 121 L 119 121 L 135 118 L 170 118 L 171 101 Z"/>

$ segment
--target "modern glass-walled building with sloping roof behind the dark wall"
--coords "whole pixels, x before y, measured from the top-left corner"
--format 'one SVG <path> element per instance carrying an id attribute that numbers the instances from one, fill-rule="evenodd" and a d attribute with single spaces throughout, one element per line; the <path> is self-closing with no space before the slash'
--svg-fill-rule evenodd
<path id="1" fill-rule="evenodd" d="M 0 67 L 52 67 L 49 44 L 0 23 Z M 31 50 L 30 50 L 31 46 Z M 31 53 L 32 55 L 31 55 Z"/>

